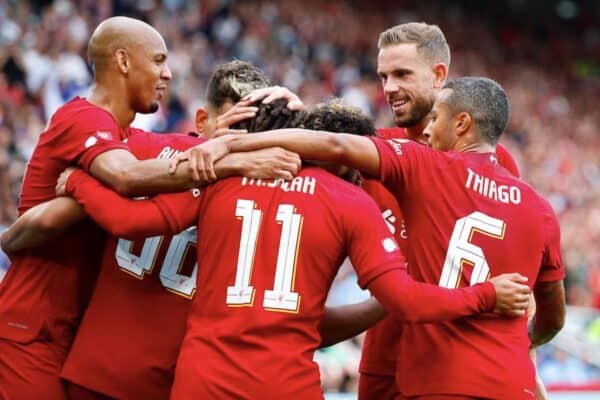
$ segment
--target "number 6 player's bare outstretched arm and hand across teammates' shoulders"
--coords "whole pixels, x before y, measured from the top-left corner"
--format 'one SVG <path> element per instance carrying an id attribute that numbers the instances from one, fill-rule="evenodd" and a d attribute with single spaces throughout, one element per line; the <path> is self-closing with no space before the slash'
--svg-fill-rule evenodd
<path id="1" fill-rule="evenodd" d="M 304 129 L 221 136 L 192 147 L 174 158 L 171 161 L 171 170 L 174 170 L 178 162 L 189 160 L 187 168 L 195 179 L 214 180 L 213 164 L 216 160 L 229 153 L 269 147 L 282 147 L 305 160 L 335 162 L 372 176 L 379 176 L 379 152 L 369 138 Z"/>

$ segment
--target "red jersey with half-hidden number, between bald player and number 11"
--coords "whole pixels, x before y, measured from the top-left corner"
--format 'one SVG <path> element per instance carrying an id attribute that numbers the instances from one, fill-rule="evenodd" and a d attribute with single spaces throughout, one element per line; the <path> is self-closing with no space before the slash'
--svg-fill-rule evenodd
<path id="1" fill-rule="evenodd" d="M 171 158 L 202 141 L 141 132 L 128 145 L 138 159 Z M 111 205 L 118 208 L 110 200 L 105 204 L 111 212 Z M 147 218 L 143 209 L 133 212 Z M 175 236 L 135 241 L 108 236 L 63 378 L 119 399 L 169 397 L 196 289 L 196 237 L 195 226 Z"/>

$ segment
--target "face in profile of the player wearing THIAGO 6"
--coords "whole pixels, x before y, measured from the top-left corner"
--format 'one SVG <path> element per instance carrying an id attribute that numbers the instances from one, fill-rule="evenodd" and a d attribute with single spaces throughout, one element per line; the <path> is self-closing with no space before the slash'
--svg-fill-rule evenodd
<path id="1" fill-rule="evenodd" d="M 423 131 L 429 146 L 436 150 L 452 150 L 458 140 L 456 127 L 460 114 L 452 115 L 450 108 L 444 102 L 451 92 L 451 89 L 443 89 L 438 93 L 431 109 L 429 123 Z"/>

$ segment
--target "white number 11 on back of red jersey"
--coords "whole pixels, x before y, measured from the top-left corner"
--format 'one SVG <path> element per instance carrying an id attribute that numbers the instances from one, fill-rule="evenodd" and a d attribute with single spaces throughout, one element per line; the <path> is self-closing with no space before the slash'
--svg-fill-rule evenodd
<path id="1" fill-rule="evenodd" d="M 275 280 L 273 289 L 265 290 L 263 297 L 263 308 L 270 311 L 297 312 L 300 306 L 300 295 L 293 289 L 302 216 L 294 211 L 294 206 L 291 204 L 281 204 L 277 208 L 275 221 L 281 223 L 281 237 L 275 266 Z M 256 208 L 254 201 L 238 200 L 235 216 L 242 219 L 242 231 L 235 282 L 227 288 L 226 303 L 230 307 L 250 307 L 254 303 L 255 289 L 251 285 L 251 280 L 263 212 Z M 264 221 L 264 223 L 271 222 Z"/>

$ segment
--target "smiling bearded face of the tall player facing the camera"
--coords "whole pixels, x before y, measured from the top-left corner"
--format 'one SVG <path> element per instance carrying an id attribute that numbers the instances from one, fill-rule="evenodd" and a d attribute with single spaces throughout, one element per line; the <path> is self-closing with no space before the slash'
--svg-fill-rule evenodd
<path id="1" fill-rule="evenodd" d="M 416 44 L 382 47 L 377 57 L 377 75 L 397 126 L 416 125 L 428 115 L 435 99 L 435 74 L 417 52 Z"/>

